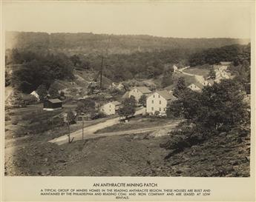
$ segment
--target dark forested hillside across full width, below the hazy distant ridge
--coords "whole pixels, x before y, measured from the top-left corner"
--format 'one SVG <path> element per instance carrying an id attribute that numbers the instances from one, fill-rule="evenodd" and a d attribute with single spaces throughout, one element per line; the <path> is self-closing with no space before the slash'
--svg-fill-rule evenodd
<path id="1" fill-rule="evenodd" d="M 167 83 L 170 84 L 172 82 L 169 71 L 173 64 L 184 67 L 232 61 L 234 67 L 237 67 L 232 70 L 238 71 L 241 69 L 240 64 L 245 61 L 250 64 L 250 47 L 250 44 L 247 44 L 211 48 L 200 52 L 180 48 L 145 53 L 109 54 L 103 58 L 103 75 L 111 81 L 125 81 L 131 78 L 148 79 L 166 75 L 167 77 L 164 76 L 163 79 L 166 77 Z M 97 71 L 101 67 L 101 61 L 101 55 L 95 54 L 65 55 L 65 53 L 37 53 L 23 49 L 8 50 L 7 69 L 9 67 L 13 69 L 11 82 L 8 84 L 11 83 L 13 87 L 23 92 L 31 92 L 40 84 L 49 87 L 55 79 L 72 79 L 74 69 Z M 7 78 L 10 77 L 8 71 L 6 75 Z"/>

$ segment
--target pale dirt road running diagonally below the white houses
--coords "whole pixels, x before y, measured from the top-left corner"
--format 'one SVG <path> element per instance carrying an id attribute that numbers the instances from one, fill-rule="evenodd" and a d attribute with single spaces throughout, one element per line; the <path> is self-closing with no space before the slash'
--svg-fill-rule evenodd
<path id="1" fill-rule="evenodd" d="M 140 110 L 137 110 L 137 112 L 135 112 L 135 115 L 139 115 L 142 114 L 143 112 L 145 112 L 145 108 L 142 108 Z M 99 124 L 94 124 L 91 127 L 85 127 L 84 128 L 84 133 L 88 135 L 94 135 L 93 138 L 95 137 L 99 137 L 99 134 L 95 135 L 93 134 L 94 132 L 96 132 L 99 129 L 104 129 L 105 127 L 111 127 L 115 124 L 119 123 L 119 117 L 117 118 L 112 118 L 109 119 L 105 122 L 99 123 Z M 90 136 L 91 137 L 91 136 Z M 82 129 L 77 130 L 76 132 L 72 132 L 70 134 L 70 138 L 73 138 L 73 141 L 78 141 L 79 139 L 82 138 Z M 66 135 L 62 135 L 59 138 L 54 138 L 53 140 L 49 141 L 51 143 L 56 143 L 56 144 L 65 144 L 68 142 L 68 134 Z"/>

